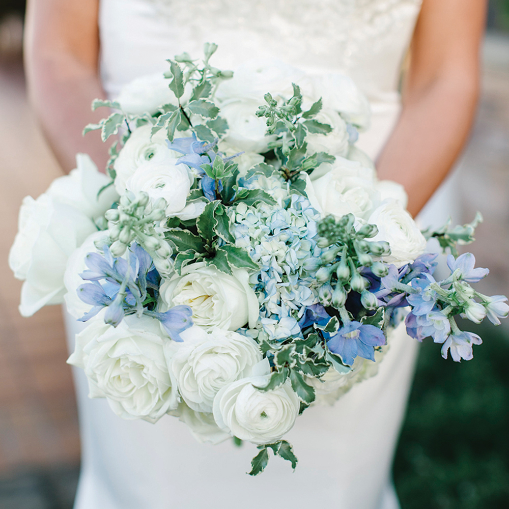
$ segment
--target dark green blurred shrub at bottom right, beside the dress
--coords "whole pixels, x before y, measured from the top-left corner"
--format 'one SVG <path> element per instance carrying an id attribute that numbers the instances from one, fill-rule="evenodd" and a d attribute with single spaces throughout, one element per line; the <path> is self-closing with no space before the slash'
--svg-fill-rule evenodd
<path id="1" fill-rule="evenodd" d="M 509 336 L 473 332 L 484 344 L 461 365 L 422 344 L 394 462 L 402 509 L 509 507 Z"/>

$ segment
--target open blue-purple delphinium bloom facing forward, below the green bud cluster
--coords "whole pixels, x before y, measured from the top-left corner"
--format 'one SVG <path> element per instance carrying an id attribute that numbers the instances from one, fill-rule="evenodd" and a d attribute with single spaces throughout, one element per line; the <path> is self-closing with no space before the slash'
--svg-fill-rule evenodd
<path id="1" fill-rule="evenodd" d="M 332 353 L 340 355 L 351 366 L 355 357 L 375 360 L 374 347 L 385 345 L 384 333 L 374 325 L 349 322 L 327 341 Z"/>

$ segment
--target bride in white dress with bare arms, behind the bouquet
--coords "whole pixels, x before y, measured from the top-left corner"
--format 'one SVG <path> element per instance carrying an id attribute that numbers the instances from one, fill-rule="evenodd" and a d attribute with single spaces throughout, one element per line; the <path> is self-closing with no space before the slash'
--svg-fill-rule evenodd
<path id="1" fill-rule="evenodd" d="M 483 0 L 29 0 L 29 92 L 63 169 L 76 152 L 100 167 L 106 146 L 84 125 L 96 97 L 114 97 L 165 59 L 216 42 L 218 67 L 277 58 L 309 72 L 350 75 L 370 99 L 372 127 L 359 146 L 381 179 L 403 184 L 417 214 L 454 163 L 478 94 Z M 413 34 L 413 35 L 412 35 Z M 401 63 L 411 59 L 398 93 Z M 100 72 L 99 72 L 100 69 Z M 68 318 L 69 341 L 78 330 Z M 398 329 L 379 372 L 334 407 L 314 407 L 289 433 L 295 473 L 272 460 L 243 472 L 252 450 L 199 444 L 177 419 L 124 421 L 87 398 L 76 373 L 82 470 L 76 509 L 254 508 L 328 504 L 395 509 L 390 464 L 416 343 Z"/>

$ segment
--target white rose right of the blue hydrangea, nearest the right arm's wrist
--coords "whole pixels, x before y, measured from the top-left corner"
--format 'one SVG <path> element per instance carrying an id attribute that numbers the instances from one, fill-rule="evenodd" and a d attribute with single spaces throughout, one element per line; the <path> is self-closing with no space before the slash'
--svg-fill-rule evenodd
<path id="1" fill-rule="evenodd" d="M 375 187 L 372 168 L 357 161 L 336 157 L 332 163 L 322 163 L 310 175 L 306 193 L 312 205 L 324 216 L 336 219 L 352 213 L 366 219 L 380 204 L 380 193 Z"/>

